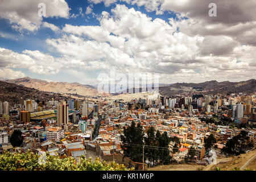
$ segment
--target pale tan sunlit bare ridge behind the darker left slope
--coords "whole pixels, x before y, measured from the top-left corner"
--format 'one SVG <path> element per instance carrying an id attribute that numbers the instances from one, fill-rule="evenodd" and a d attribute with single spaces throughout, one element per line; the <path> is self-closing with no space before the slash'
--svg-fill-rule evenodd
<path id="1" fill-rule="evenodd" d="M 23 85 L 28 88 L 35 88 L 44 92 L 78 94 L 80 96 L 102 96 L 102 94 L 99 94 L 93 86 L 82 85 L 78 82 L 47 82 L 39 79 L 32 79 L 30 77 L 6 81 L 17 85 Z"/>

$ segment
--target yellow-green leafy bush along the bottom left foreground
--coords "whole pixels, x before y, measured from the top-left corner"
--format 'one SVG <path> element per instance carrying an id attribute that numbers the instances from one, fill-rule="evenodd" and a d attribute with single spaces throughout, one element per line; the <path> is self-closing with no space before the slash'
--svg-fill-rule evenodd
<path id="1" fill-rule="evenodd" d="M 39 155 L 31 151 L 26 153 L 4 152 L 0 155 L 0 171 L 127 171 L 123 164 L 106 164 L 97 158 L 92 162 L 91 158 L 81 156 L 80 162 L 75 158 L 60 159 L 59 156 L 46 155 L 46 162 L 38 163 Z"/>

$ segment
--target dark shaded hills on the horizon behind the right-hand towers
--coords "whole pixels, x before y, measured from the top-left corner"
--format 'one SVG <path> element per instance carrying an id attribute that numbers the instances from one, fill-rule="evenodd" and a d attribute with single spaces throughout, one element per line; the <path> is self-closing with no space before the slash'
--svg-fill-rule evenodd
<path id="1" fill-rule="evenodd" d="M 207 81 L 199 84 L 194 83 L 176 83 L 170 86 L 159 87 L 159 93 L 162 96 L 174 96 L 181 93 L 204 93 L 204 94 L 228 94 L 228 93 L 251 93 L 256 92 L 256 80 L 251 79 L 241 82 L 218 82 Z"/>

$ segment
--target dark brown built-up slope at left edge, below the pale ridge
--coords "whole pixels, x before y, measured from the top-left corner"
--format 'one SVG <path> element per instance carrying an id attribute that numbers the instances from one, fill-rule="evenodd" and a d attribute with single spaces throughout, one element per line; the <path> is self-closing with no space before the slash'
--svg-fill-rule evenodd
<path id="1" fill-rule="evenodd" d="M 60 94 L 42 92 L 34 88 L 28 88 L 23 85 L 16 85 L 5 81 L 0 81 L 0 88 L 0 101 L 8 101 L 11 105 L 19 104 L 20 97 L 24 98 L 24 100 L 38 99 L 40 101 L 48 101 L 51 100 L 51 98 L 54 98 L 55 100 L 69 98 L 61 96 Z"/>

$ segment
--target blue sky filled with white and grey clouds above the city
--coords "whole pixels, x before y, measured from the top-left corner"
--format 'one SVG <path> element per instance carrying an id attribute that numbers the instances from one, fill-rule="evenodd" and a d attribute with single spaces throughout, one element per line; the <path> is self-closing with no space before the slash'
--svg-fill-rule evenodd
<path id="1" fill-rule="evenodd" d="M 255 0 L 0 3 L 0 78 L 96 85 L 113 70 L 164 84 L 256 78 Z"/>

